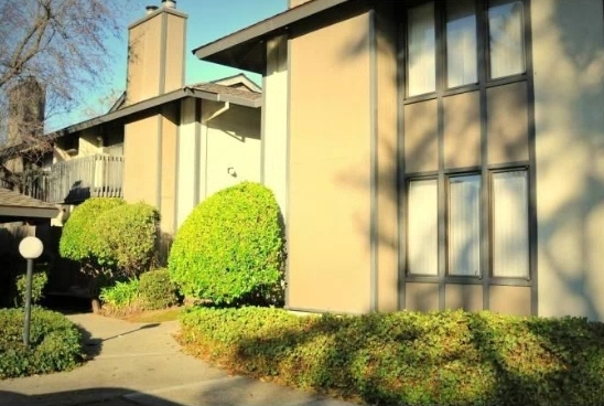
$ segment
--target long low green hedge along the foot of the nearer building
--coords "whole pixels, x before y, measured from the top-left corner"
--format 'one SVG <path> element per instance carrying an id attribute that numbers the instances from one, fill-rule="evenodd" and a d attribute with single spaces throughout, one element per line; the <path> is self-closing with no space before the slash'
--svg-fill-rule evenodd
<path id="1" fill-rule="evenodd" d="M 195 309 L 180 341 L 235 373 L 373 405 L 604 404 L 604 324 L 489 312 Z"/>

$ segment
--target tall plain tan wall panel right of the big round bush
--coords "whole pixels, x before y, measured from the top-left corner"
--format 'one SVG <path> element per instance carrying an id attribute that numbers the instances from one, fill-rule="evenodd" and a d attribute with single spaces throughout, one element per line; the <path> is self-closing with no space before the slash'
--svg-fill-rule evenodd
<path id="1" fill-rule="evenodd" d="M 368 33 L 363 14 L 290 40 L 290 308 L 370 309 Z"/>

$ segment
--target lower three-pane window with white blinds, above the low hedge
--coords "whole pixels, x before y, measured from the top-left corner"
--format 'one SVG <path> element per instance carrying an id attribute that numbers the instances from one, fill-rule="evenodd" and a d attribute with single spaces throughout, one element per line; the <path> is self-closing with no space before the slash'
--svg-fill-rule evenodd
<path id="1" fill-rule="evenodd" d="M 528 185 L 526 170 L 494 171 L 490 186 L 481 188 L 479 174 L 451 175 L 446 188 L 446 238 L 439 241 L 436 180 L 412 180 L 408 190 L 408 270 L 439 275 L 439 244 L 446 249 L 446 275 L 479 277 L 484 256 L 490 255 L 490 275 L 529 277 Z M 481 250 L 481 200 L 487 193 L 489 250 Z M 486 195 L 485 195 L 486 196 Z"/>

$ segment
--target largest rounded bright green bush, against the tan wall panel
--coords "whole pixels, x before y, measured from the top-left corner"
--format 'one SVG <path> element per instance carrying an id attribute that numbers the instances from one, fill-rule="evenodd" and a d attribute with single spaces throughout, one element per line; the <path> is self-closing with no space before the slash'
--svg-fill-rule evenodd
<path id="1" fill-rule="evenodd" d="M 187 297 L 274 302 L 282 297 L 283 247 L 274 195 L 241 182 L 193 210 L 174 237 L 169 268 Z"/>

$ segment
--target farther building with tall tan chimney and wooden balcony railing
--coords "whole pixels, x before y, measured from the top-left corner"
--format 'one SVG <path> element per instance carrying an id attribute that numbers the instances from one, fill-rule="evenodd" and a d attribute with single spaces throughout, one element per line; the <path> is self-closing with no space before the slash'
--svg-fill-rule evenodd
<path id="1" fill-rule="evenodd" d="M 259 181 L 261 88 L 242 74 L 185 84 L 186 23 L 163 1 L 129 25 L 123 95 L 107 114 L 46 135 L 37 197 L 144 201 L 171 236 L 206 196 Z"/>

